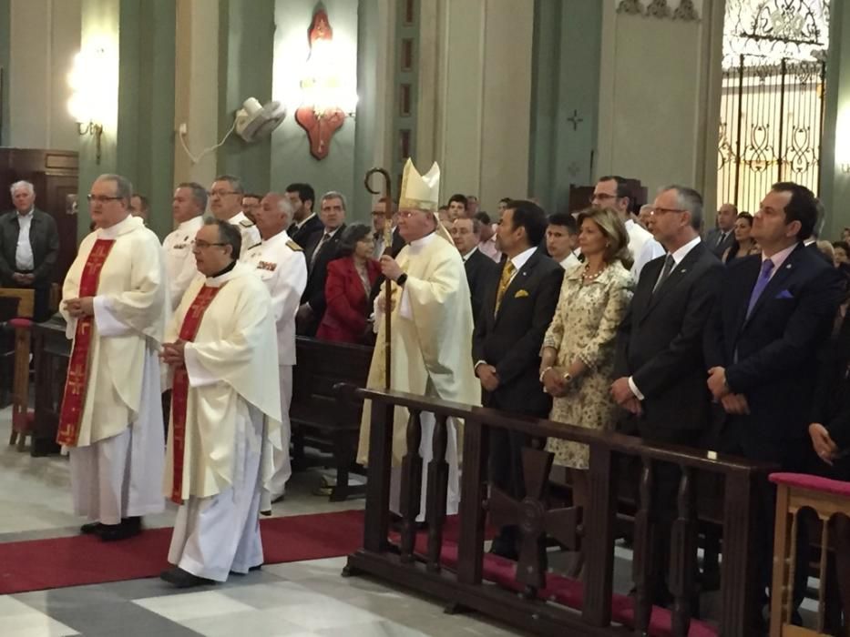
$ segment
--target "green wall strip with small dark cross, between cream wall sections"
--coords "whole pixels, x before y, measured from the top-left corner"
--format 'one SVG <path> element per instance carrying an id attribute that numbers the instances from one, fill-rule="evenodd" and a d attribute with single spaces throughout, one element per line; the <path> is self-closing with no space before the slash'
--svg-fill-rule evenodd
<path id="1" fill-rule="evenodd" d="M 535 0 L 534 19 L 528 183 L 530 193 L 555 212 L 567 205 L 570 184 L 592 183 L 602 3 Z M 575 129 L 568 121 L 574 111 L 583 120 Z"/>

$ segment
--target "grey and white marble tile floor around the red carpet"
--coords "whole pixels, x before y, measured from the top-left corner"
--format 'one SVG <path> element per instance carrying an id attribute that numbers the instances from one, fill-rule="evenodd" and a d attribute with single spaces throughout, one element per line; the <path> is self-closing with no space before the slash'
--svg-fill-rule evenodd
<path id="1" fill-rule="evenodd" d="M 10 411 L 0 411 L 8 440 Z M 274 515 L 363 508 L 312 494 L 317 470 L 296 473 Z M 0 447 L 0 541 L 77 533 L 67 460 Z M 145 519 L 170 526 L 174 508 Z M 119 581 L 0 596 L 0 637 L 415 637 L 517 635 L 476 615 L 446 615 L 434 600 L 369 578 L 343 578 L 344 558 L 264 566 L 223 585 L 175 591 L 159 579 Z"/>

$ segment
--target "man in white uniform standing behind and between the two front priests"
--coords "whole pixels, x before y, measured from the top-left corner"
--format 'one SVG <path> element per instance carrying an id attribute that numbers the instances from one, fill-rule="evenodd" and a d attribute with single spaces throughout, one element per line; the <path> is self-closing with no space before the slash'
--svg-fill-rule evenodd
<path id="1" fill-rule="evenodd" d="M 162 240 L 172 308 L 179 306 L 189 283 L 198 276 L 195 255 L 192 254 L 192 242 L 200 227 L 204 225 L 203 214 L 206 209 L 206 188 L 195 182 L 183 182 L 175 188 L 174 197 L 171 199 L 171 212 L 178 227 Z"/>

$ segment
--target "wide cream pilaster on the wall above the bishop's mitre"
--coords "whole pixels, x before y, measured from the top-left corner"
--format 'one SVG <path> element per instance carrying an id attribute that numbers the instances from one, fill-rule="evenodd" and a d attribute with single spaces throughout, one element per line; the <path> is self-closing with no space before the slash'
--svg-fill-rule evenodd
<path id="1" fill-rule="evenodd" d="M 416 166 L 436 160 L 440 196 L 493 212 L 528 190 L 534 4 L 435 0 L 420 9 Z"/>

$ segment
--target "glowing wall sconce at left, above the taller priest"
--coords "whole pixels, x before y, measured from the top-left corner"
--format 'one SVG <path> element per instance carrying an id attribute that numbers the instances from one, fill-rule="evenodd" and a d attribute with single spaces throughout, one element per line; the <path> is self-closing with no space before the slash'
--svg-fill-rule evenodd
<path id="1" fill-rule="evenodd" d="M 102 108 L 108 102 L 104 95 L 104 80 L 109 76 L 106 49 L 97 48 L 90 52 L 80 51 L 74 56 L 74 65 L 68 74 L 68 86 L 71 96 L 68 98 L 68 112 L 77 121 L 77 133 L 80 136 L 95 137 L 95 162 L 100 163 L 103 137 Z"/>

